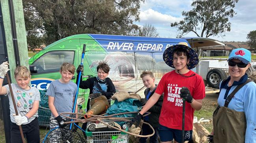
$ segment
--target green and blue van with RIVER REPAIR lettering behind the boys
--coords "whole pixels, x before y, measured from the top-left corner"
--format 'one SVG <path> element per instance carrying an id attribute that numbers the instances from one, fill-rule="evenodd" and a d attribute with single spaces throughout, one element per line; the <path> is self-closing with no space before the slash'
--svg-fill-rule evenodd
<path id="1" fill-rule="evenodd" d="M 113 81 L 116 91 L 136 92 L 144 87 L 140 79 L 142 71 L 152 71 L 158 83 L 163 74 L 172 70 L 164 63 L 163 52 L 179 42 L 187 42 L 187 40 L 102 34 L 69 36 L 48 45 L 30 58 L 31 84 L 32 87 L 44 91 L 40 93 L 45 94 L 50 82 L 61 78 L 60 66 L 63 62 L 73 63 L 78 67 L 83 44 L 86 44 L 83 80 L 97 76 L 97 65 L 101 60 L 106 60 L 110 66 L 108 77 Z M 75 73 L 73 82 L 76 81 L 76 77 Z M 142 98 L 144 98 L 143 92 L 144 89 L 138 92 Z M 79 89 L 77 103 L 80 113 L 86 112 L 88 94 L 88 89 Z M 48 98 L 44 99 L 48 100 Z M 47 101 L 41 102 L 47 103 Z"/>

